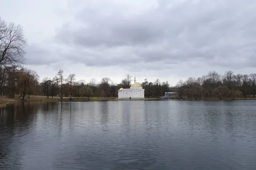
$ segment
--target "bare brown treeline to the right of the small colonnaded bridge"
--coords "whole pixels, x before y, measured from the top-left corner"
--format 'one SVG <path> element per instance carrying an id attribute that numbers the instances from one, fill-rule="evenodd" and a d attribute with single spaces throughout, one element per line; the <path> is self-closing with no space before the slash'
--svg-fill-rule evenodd
<path id="1" fill-rule="evenodd" d="M 224 75 L 216 71 L 209 71 L 205 76 L 189 77 L 186 81 L 180 80 L 176 91 L 181 98 L 201 99 L 218 97 L 219 99 L 255 97 L 256 74 L 234 74 L 226 71 Z"/>

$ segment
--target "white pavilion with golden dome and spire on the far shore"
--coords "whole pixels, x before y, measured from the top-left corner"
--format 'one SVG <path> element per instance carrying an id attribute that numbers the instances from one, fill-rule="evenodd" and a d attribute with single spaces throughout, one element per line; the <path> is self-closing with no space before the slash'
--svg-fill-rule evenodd
<path id="1" fill-rule="evenodd" d="M 134 84 L 130 88 L 120 88 L 118 90 L 118 99 L 144 99 L 144 90 L 136 82 L 136 76 L 134 75 Z"/>

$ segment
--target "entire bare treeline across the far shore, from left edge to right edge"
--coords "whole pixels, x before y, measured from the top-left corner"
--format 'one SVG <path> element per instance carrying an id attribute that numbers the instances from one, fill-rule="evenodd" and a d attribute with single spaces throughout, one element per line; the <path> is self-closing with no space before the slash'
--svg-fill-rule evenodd
<path id="1" fill-rule="evenodd" d="M 35 71 L 15 66 L 0 66 L 0 94 L 14 97 L 14 94 L 63 97 L 117 97 L 119 88 L 130 88 L 133 82 L 132 76 L 127 74 L 120 83 L 113 82 L 105 77 L 97 81 L 90 79 L 76 81 L 76 75 L 63 76 L 60 70 L 55 77 L 39 79 Z M 186 81 L 180 80 L 177 85 L 170 86 L 168 81 L 148 82 L 147 79 L 140 84 L 145 89 L 145 97 L 160 97 L 164 92 L 177 92 L 180 98 L 201 99 L 218 97 L 219 99 L 239 98 L 256 95 L 256 74 L 234 74 L 227 71 L 223 76 L 216 71 L 210 71 L 207 75 Z"/>

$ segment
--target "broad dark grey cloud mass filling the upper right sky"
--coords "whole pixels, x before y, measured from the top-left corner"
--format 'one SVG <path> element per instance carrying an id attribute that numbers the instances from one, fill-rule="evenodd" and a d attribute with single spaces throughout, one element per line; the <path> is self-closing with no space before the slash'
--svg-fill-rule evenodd
<path id="1" fill-rule="evenodd" d="M 136 61 L 151 65 L 148 69 L 156 69 L 152 66 L 155 62 L 193 61 L 225 67 L 239 68 L 243 64 L 255 67 L 251 59 L 256 50 L 256 1 L 158 2 L 158 7 L 136 15 L 120 11 L 105 15 L 97 11 L 100 9 L 85 8 L 76 16 L 81 25 L 64 25 L 57 32 L 56 42 L 68 45 L 74 52 L 78 48 L 88 49 L 89 52 L 75 52 L 76 61 L 88 66 L 132 67 Z M 168 2 L 175 3 L 169 6 Z M 70 54 L 74 57 L 73 52 Z M 71 59 L 70 54 L 67 58 Z"/>

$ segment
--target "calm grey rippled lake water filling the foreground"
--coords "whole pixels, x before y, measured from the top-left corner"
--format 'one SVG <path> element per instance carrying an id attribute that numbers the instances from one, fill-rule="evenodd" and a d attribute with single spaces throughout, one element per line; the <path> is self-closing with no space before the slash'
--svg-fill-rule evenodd
<path id="1" fill-rule="evenodd" d="M 25 102 L 0 111 L 0 170 L 256 168 L 256 101 Z"/>

